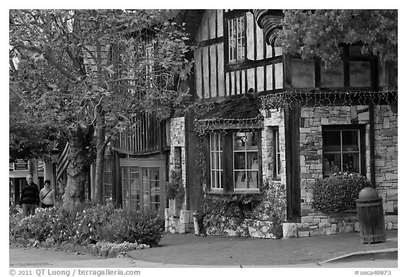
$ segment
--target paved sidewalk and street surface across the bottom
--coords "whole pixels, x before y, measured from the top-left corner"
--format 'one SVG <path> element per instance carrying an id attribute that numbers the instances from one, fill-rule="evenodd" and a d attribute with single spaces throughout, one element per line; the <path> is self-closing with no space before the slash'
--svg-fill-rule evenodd
<path id="1" fill-rule="evenodd" d="M 136 250 L 126 257 L 102 259 L 90 254 L 9 245 L 9 267 L 19 268 L 370 268 L 398 266 L 397 233 L 376 245 L 362 245 L 357 234 L 291 240 L 165 235 L 160 247 Z M 346 250 L 347 249 L 347 250 Z M 363 255 L 355 255 L 360 250 Z M 373 251 L 375 256 L 366 256 Z M 377 254 L 384 251 L 387 254 Z M 229 253 L 234 253 L 233 256 Z M 352 254 L 347 256 L 346 254 Z M 264 256 L 264 257 L 263 257 Z M 190 259 L 187 259 L 189 257 Z M 250 260 L 248 257 L 251 257 Z M 261 259 L 261 257 L 263 257 Z M 329 258 L 338 258 L 331 261 Z M 226 259 L 228 258 L 228 259 Z M 246 259 L 243 263 L 240 259 Z M 257 259 L 255 261 L 254 259 Z M 330 262 L 326 262 L 330 261 Z"/>

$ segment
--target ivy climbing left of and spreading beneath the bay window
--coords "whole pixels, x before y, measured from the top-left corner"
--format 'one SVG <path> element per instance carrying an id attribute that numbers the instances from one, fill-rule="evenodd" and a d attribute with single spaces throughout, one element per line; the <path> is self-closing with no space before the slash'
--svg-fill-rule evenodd
<path id="1" fill-rule="evenodd" d="M 195 104 L 196 118 L 213 109 L 214 104 Z M 208 133 L 213 128 L 195 120 L 195 132 L 199 138 L 199 156 L 196 164 L 201 168 L 203 195 L 202 210 L 196 213 L 201 234 L 259 236 L 281 238 L 286 217 L 285 187 L 278 181 L 264 181 L 260 193 L 254 195 L 215 195 L 206 189 L 206 152 Z"/>

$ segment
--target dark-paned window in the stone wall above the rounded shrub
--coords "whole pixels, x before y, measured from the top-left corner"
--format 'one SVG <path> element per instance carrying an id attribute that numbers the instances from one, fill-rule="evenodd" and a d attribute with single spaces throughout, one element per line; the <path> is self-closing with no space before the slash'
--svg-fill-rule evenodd
<path id="1" fill-rule="evenodd" d="M 364 174 L 363 134 L 362 129 L 349 126 L 323 130 L 324 176 L 345 171 Z"/>

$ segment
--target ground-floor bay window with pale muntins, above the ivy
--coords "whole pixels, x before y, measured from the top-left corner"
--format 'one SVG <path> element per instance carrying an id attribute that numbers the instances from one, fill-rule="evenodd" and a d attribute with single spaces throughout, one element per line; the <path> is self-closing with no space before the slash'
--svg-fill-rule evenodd
<path id="1" fill-rule="evenodd" d="M 211 133 L 210 177 L 213 192 L 259 192 L 259 132 Z"/>

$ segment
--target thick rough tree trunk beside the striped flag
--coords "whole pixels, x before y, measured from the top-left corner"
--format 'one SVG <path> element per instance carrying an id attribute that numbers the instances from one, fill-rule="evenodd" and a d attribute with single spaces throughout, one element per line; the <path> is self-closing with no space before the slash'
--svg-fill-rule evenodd
<path id="1" fill-rule="evenodd" d="M 82 130 L 78 127 L 76 132 L 69 136 L 69 166 L 66 168 L 68 179 L 64 193 L 66 208 L 73 207 L 85 200 L 85 182 L 89 168 L 89 143 L 93 128 Z"/>

